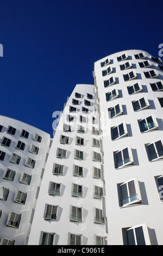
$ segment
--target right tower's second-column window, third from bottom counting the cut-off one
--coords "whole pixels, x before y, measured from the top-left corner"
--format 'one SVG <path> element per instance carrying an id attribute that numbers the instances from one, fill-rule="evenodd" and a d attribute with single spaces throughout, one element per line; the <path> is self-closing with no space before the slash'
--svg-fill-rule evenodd
<path id="1" fill-rule="evenodd" d="M 155 130 L 158 129 L 159 126 L 154 115 L 150 115 L 150 117 L 140 119 L 138 120 L 138 123 L 141 132 Z"/>

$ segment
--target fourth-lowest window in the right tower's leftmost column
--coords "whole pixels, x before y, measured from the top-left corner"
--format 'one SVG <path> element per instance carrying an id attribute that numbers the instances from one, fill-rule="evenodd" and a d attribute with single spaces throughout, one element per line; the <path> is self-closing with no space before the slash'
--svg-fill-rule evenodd
<path id="1" fill-rule="evenodd" d="M 124 136 L 127 136 L 127 127 L 126 123 L 121 123 L 117 126 L 111 127 L 111 139 L 114 141 L 114 139 L 122 138 Z"/>

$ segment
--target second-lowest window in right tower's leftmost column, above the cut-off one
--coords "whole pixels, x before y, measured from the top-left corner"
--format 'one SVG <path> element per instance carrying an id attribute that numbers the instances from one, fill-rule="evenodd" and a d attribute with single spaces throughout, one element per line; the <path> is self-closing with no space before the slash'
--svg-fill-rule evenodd
<path id="1" fill-rule="evenodd" d="M 141 194 L 137 178 L 118 184 L 118 198 L 120 206 L 141 203 Z"/>

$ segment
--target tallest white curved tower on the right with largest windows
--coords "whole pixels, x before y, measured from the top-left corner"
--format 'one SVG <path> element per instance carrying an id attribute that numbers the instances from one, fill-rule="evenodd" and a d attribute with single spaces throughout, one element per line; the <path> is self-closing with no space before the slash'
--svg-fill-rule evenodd
<path id="1" fill-rule="evenodd" d="M 163 72 L 141 50 L 95 63 L 108 245 L 162 245 Z"/>

